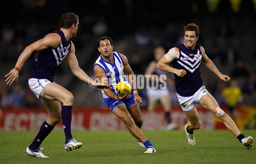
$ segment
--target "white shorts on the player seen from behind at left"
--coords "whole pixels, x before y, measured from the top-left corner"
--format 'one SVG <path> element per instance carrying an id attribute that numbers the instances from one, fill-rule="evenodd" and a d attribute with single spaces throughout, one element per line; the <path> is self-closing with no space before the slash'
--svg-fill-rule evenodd
<path id="1" fill-rule="evenodd" d="M 35 93 L 36 97 L 44 98 L 44 95 L 40 95 L 44 87 L 51 83 L 47 79 L 37 79 L 37 78 L 30 78 L 29 79 L 29 87 Z"/>

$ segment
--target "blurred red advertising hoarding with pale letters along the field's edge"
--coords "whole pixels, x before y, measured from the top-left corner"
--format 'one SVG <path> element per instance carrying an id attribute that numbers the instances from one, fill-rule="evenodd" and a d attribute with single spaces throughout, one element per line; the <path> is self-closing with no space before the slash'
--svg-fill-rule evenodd
<path id="1" fill-rule="evenodd" d="M 224 111 L 226 109 L 222 107 Z M 215 115 L 197 106 L 198 114 L 201 119 L 201 129 L 226 129 L 224 124 Z M 143 126 L 145 130 L 164 130 L 166 129 L 165 113 L 163 109 L 158 108 L 156 112 L 147 112 L 142 110 Z M 238 108 L 240 118 L 235 119 L 239 129 L 250 126 L 251 119 L 256 116 L 256 109 L 252 106 L 240 106 Z M 26 108 L 26 109 L 3 109 L 0 119 L 1 130 L 38 130 L 41 124 L 48 118 L 47 111 L 44 108 Z M 188 122 L 186 115 L 180 108 L 172 108 L 172 122 L 177 124 L 177 129 L 183 129 L 184 124 Z M 252 125 L 253 126 L 253 125 Z M 110 109 L 101 108 L 73 108 L 72 110 L 72 130 L 122 130 L 127 129 L 119 118 L 114 115 Z M 55 130 L 62 130 L 60 122 Z"/>

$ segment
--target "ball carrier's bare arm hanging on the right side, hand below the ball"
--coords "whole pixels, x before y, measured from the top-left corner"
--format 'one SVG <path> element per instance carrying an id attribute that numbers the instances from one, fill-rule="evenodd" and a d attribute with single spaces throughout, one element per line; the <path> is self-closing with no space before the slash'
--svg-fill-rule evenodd
<path id="1" fill-rule="evenodd" d="M 125 55 L 120 54 L 120 56 L 124 61 L 124 72 L 126 73 L 126 75 L 128 75 L 129 78 L 131 77 L 131 79 L 129 79 L 129 81 L 131 81 L 131 86 L 132 86 L 133 93 L 134 93 L 134 102 L 135 102 L 135 104 L 142 104 L 142 98 L 138 95 L 137 86 L 136 86 L 136 78 L 134 76 L 134 72 L 132 71 Z"/>

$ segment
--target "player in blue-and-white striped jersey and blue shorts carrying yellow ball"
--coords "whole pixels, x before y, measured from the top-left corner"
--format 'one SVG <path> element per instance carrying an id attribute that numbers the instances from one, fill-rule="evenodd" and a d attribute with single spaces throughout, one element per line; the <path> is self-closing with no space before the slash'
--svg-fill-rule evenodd
<path id="1" fill-rule="evenodd" d="M 130 95 L 120 97 L 116 93 L 117 83 L 126 81 L 124 72 L 131 78 L 134 77 L 127 58 L 118 52 L 112 52 L 113 41 L 110 37 L 99 38 L 97 46 L 101 55 L 93 65 L 93 73 L 101 83 L 109 84 L 112 87 L 111 90 L 102 90 L 103 101 L 123 121 L 129 132 L 137 138 L 138 144 L 147 148 L 145 153 L 157 152 L 140 129 L 143 124 L 143 118 L 138 104 L 142 103 L 142 98 L 138 95 L 136 83 L 134 82 L 131 85 L 133 92 Z"/>

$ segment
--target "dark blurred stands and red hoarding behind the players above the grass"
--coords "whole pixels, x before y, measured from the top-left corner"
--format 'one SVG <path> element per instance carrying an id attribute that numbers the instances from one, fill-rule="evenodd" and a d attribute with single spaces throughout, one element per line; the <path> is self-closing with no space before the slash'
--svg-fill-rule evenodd
<path id="1" fill-rule="evenodd" d="M 236 124 L 239 129 L 256 128 L 256 0 L 160 0 L 151 3 L 140 0 L 13 0 L 1 3 L 4 6 L 0 11 L 3 22 L 0 27 L 1 129 L 38 129 L 41 120 L 47 117 L 27 84 L 36 52 L 20 71 L 18 83 L 6 86 L 4 75 L 15 66 L 27 45 L 59 29 L 58 20 L 65 12 L 79 15 L 79 30 L 71 40 L 76 47 L 79 66 L 89 76 L 93 75 L 92 66 L 99 56 L 96 41 L 101 36 L 110 36 L 114 51 L 126 55 L 134 73 L 140 75 L 153 59 L 154 47 L 162 45 L 168 50 L 183 43 L 183 27 L 192 22 L 198 24 L 198 44 L 204 47 L 220 72 L 237 80 L 243 91 L 244 99 L 238 106 L 241 117 Z M 227 84 L 203 65 L 201 76 L 209 92 L 227 110 L 221 95 Z M 173 75 L 170 78 L 173 79 Z M 76 122 L 72 123 L 73 129 L 125 129 L 106 108 L 101 93 L 74 77 L 66 62 L 61 64 L 55 82 L 74 95 L 73 121 Z M 172 118 L 182 129 L 186 117 L 177 104 L 174 86 L 169 89 L 174 110 Z M 145 122 L 143 128 L 164 129 L 162 109 L 154 114 L 146 112 L 145 89 L 139 92 L 143 97 L 140 106 Z M 202 122 L 205 121 L 202 129 L 223 128 L 210 112 L 200 106 L 198 111 Z"/>

